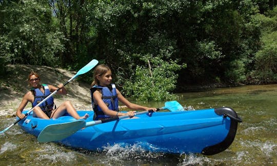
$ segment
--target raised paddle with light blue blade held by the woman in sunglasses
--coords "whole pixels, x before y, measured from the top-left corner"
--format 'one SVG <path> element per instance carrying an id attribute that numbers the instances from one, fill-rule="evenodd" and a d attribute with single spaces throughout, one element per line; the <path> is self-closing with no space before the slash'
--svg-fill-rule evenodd
<path id="1" fill-rule="evenodd" d="M 84 66 L 82 69 L 80 69 L 72 78 L 70 78 L 65 84 L 64 86 L 66 86 L 71 80 L 73 80 L 74 78 L 76 78 L 78 75 L 84 74 L 88 71 L 90 71 L 92 68 L 94 68 L 96 65 L 98 64 L 98 60 L 96 59 L 92 59 L 90 61 L 90 63 L 88 63 L 86 66 Z M 45 102 L 48 98 L 50 98 L 52 95 L 54 95 L 55 93 L 57 93 L 57 91 L 59 91 L 61 88 L 58 88 L 57 90 L 55 90 L 54 92 L 52 92 L 50 95 L 48 95 L 44 100 L 42 100 L 41 102 L 39 102 L 35 107 L 38 107 L 40 105 L 42 105 L 43 102 Z M 27 117 L 27 115 L 33 111 L 34 107 L 28 111 L 25 116 Z M 11 124 L 8 128 L 6 128 L 5 130 L 1 131 L 0 133 L 4 133 L 5 131 L 9 130 L 12 126 L 14 126 L 14 124 L 18 123 L 19 121 L 21 121 L 22 119 L 18 119 L 16 120 L 13 124 Z"/>

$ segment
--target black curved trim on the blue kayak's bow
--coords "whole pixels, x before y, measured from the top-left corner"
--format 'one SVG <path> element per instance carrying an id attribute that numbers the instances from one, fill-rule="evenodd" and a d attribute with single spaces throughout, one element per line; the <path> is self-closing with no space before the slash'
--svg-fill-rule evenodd
<path id="1" fill-rule="evenodd" d="M 222 142 L 204 148 L 201 152 L 204 155 L 214 155 L 226 150 L 234 140 L 236 129 L 238 128 L 238 123 L 242 122 L 242 119 L 230 107 L 215 108 L 214 112 L 217 115 L 222 115 L 224 118 L 229 117 L 231 119 L 230 130 L 226 138 Z"/>

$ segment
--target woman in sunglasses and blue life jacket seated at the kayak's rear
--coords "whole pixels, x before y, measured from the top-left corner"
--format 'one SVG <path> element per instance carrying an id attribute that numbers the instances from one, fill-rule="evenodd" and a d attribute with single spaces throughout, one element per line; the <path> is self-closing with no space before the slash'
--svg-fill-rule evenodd
<path id="1" fill-rule="evenodd" d="M 33 116 L 43 119 L 50 119 L 50 118 L 58 118 L 63 116 L 66 112 L 74 117 L 75 119 L 87 119 L 88 114 L 85 116 L 79 116 L 72 106 L 70 101 L 64 101 L 59 107 L 55 107 L 54 98 L 51 96 L 49 97 L 44 103 L 40 106 L 36 107 L 36 105 L 44 100 L 48 95 L 52 92 L 60 88 L 57 91 L 57 94 L 65 95 L 67 94 L 67 90 L 65 89 L 63 84 L 54 87 L 52 85 L 41 84 L 41 79 L 39 75 L 35 72 L 31 72 L 28 75 L 28 82 L 31 90 L 28 91 L 21 101 L 21 104 L 16 110 L 16 116 L 23 119 L 25 118 L 25 114 L 22 113 L 24 108 L 26 107 L 28 102 L 32 103 L 33 109 Z"/>

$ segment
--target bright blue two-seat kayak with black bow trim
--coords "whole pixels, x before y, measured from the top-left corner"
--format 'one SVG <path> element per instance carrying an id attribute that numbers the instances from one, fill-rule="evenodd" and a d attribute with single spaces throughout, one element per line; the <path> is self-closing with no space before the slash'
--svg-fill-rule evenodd
<path id="1" fill-rule="evenodd" d="M 93 121 L 93 111 L 77 112 L 80 116 L 88 113 L 89 118 L 75 120 L 65 115 L 46 120 L 35 118 L 31 113 L 18 124 L 38 137 L 39 142 L 60 142 L 90 151 L 103 150 L 117 143 L 123 147 L 139 144 L 151 152 L 213 155 L 231 145 L 238 122 L 242 121 L 229 107 L 138 113 L 133 118 L 98 120 L 100 123 Z"/>

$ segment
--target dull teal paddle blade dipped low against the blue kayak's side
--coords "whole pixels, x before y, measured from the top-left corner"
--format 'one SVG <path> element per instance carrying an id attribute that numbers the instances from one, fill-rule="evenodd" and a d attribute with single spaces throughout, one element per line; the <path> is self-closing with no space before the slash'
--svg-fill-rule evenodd
<path id="1" fill-rule="evenodd" d="M 38 135 L 38 142 L 51 142 L 62 140 L 86 127 L 85 120 L 76 120 L 66 123 L 50 124 Z"/>

